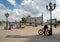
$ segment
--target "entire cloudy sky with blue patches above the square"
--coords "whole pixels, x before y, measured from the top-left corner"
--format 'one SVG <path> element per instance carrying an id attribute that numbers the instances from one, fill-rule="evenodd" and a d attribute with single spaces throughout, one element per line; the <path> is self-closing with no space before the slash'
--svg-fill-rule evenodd
<path id="1" fill-rule="evenodd" d="M 42 13 L 46 21 L 50 16 L 46 5 L 50 1 L 57 5 L 52 12 L 53 18 L 60 20 L 60 0 L 0 0 L 0 20 L 6 20 L 5 13 L 8 12 L 9 21 L 19 21 L 20 18 L 28 15 L 39 17 Z"/>

